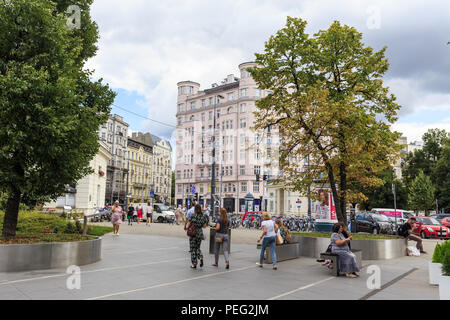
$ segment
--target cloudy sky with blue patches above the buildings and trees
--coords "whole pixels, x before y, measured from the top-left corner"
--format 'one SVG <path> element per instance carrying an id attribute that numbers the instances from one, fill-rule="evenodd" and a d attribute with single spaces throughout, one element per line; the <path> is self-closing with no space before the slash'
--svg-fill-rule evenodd
<path id="1" fill-rule="evenodd" d="M 339 20 L 375 50 L 388 47 L 385 84 L 402 105 L 393 128 L 415 141 L 429 128 L 450 131 L 449 12 L 446 0 L 94 0 L 101 38 L 88 68 L 118 93 L 115 105 L 175 126 L 177 82 L 204 90 L 239 76 L 286 16 L 306 20 L 310 35 Z M 172 127 L 118 107 L 131 130 L 171 139 Z"/>

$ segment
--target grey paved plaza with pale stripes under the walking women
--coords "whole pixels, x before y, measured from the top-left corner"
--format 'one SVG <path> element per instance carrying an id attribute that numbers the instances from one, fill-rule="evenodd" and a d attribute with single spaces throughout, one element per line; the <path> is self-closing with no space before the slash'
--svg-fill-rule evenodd
<path id="1" fill-rule="evenodd" d="M 428 260 L 436 243 L 425 240 L 427 255 L 363 261 L 360 278 L 333 277 L 316 259 L 302 257 L 256 266 L 258 230 L 232 230 L 230 269 L 223 256 L 211 266 L 209 242 L 203 241 L 205 266 L 190 268 L 188 238 L 182 226 L 123 224 L 120 236 L 103 237 L 102 260 L 81 266 L 80 289 L 68 289 L 65 269 L 0 273 L 0 299 L 114 300 L 438 300 L 428 284 Z M 368 266 L 381 270 L 381 289 L 369 289 Z M 218 288 L 221 288 L 218 290 Z"/>

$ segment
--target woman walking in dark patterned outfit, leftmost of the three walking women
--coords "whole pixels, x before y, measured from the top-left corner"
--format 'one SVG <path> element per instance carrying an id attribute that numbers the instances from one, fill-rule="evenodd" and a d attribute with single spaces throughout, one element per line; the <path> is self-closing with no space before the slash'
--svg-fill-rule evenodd
<path id="1" fill-rule="evenodd" d="M 200 260 L 200 267 L 203 267 L 203 254 L 200 250 L 200 245 L 203 239 L 203 230 L 206 228 L 208 218 L 203 214 L 202 207 L 199 204 L 195 205 L 194 214 L 189 218 L 187 230 L 193 225 L 195 227 L 195 234 L 189 238 L 189 247 L 191 251 L 191 268 L 197 268 L 197 259 Z"/>

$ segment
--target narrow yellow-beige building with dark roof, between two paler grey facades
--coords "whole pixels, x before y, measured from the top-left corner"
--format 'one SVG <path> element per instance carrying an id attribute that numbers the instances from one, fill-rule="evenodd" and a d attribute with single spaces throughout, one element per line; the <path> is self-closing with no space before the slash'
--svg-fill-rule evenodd
<path id="1" fill-rule="evenodd" d="M 150 133 L 133 132 L 128 137 L 127 157 L 128 203 L 147 203 L 152 191 L 153 142 Z"/>

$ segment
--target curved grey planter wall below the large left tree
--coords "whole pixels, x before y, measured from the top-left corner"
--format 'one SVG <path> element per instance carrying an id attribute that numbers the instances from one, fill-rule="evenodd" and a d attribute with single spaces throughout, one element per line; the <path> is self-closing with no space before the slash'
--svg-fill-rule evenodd
<path id="1" fill-rule="evenodd" d="M 82 266 L 101 260 L 102 238 L 76 242 L 0 245 L 0 272 Z"/>

